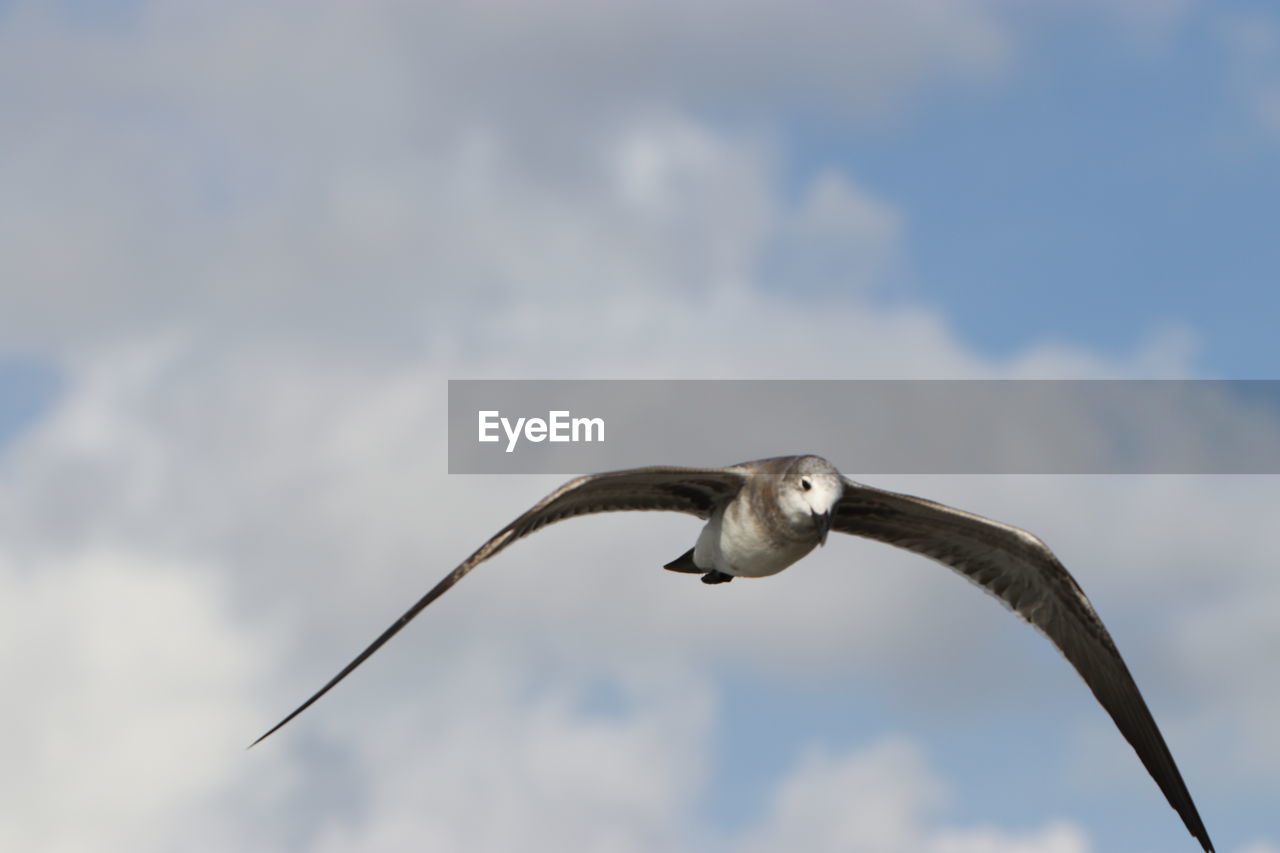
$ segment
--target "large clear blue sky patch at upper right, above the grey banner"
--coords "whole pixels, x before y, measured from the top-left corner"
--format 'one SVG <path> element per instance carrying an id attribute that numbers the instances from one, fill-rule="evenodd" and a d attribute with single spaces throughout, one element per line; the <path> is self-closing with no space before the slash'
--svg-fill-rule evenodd
<path id="1" fill-rule="evenodd" d="M 1280 152 L 1222 23 L 1251 5 L 1192 9 L 1155 45 L 1053 15 L 991 90 L 925 97 L 887 128 L 801 124 L 797 168 L 838 163 L 900 201 L 910 298 L 984 352 L 1046 337 L 1116 352 L 1170 327 L 1204 374 L 1270 378 Z"/>

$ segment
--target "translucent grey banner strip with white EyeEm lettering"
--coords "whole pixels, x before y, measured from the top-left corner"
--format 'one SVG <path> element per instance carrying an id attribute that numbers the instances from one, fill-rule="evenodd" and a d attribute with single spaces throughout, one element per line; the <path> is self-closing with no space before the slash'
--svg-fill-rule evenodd
<path id="1" fill-rule="evenodd" d="M 1280 474 L 1274 380 L 449 380 L 451 474 Z"/>

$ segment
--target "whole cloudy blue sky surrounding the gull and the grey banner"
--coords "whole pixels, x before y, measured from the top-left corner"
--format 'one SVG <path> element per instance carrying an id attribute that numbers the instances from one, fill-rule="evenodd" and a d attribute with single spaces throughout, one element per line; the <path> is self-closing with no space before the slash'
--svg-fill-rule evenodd
<path id="1" fill-rule="evenodd" d="M 1196 849 L 960 578 L 659 514 L 244 747 L 558 485 L 448 475 L 448 379 L 1274 378 L 1270 4 L 4 0 L 0 151 L 4 849 Z M 874 484 L 1044 539 L 1280 853 L 1274 476 Z"/>

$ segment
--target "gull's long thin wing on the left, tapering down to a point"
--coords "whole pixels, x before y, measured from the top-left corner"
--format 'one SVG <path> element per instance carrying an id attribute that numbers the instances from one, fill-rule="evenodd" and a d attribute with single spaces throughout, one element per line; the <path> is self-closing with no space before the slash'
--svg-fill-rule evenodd
<path id="1" fill-rule="evenodd" d="M 404 615 L 370 643 L 369 648 L 357 654 L 356 660 L 348 663 L 338 675 L 333 676 L 328 684 L 316 690 L 310 699 L 300 704 L 293 713 L 280 720 L 270 731 L 251 743 L 250 747 L 261 743 L 276 729 L 306 711 L 311 703 L 351 675 L 352 670 L 364 663 L 370 654 L 398 634 L 428 605 L 448 592 L 449 587 L 462 580 L 463 575 L 516 539 L 527 537 L 548 524 L 593 512 L 671 510 L 707 519 L 719 503 L 737 494 L 745 479 L 745 473 L 737 467 L 654 466 L 588 474 L 570 480 L 480 546 L 475 553 L 463 560 L 457 569 L 445 575 L 440 583 L 435 584 L 412 607 L 404 611 Z"/>

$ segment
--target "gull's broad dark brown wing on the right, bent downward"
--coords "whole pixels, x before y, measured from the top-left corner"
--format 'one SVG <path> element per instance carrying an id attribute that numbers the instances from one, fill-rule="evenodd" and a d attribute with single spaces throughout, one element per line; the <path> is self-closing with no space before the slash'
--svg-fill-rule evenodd
<path id="1" fill-rule="evenodd" d="M 1020 528 L 847 478 L 831 526 L 955 569 L 1052 640 L 1115 720 L 1190 834 L 1212 853 L 1204 824 L 1129 667 L 1084 590 L 1043 542 Z"/>

